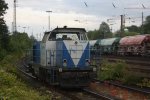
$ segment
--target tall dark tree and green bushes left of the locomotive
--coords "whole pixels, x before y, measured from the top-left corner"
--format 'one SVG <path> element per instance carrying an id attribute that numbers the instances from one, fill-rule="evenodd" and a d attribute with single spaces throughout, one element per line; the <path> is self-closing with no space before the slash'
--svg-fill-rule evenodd
<path id="1" fill-rule="evenodd" d="M 8 4 L 0 0 L 0 61 L 8 54 L 23 53 L 30 48 L 34 38 L 28 37 L 27 33 L 16 32 L 10 34 L 4 20 L 4 14 L 8 9 Z"/>

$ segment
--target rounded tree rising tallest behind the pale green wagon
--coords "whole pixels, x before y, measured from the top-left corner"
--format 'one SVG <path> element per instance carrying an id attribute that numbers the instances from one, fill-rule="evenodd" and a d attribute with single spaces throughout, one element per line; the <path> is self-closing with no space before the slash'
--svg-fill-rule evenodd
<path id="1" fill-rule="evenodd" d="M 100 37 L 102 38 L 110 38 L 112 37 L 112 33 L 110 32 L 109 25 L 106 22 L 102 22 L 99 28 Z"/>

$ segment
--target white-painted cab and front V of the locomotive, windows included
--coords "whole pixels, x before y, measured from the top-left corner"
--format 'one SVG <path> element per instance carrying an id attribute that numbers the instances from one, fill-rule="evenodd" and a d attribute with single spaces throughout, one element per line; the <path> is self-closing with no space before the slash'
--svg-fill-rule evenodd
<path id="1" fill-rule="evenodd" d="M 78 31 L 52 31 L 44 34 L 41 43 L 41 66 L 56 66 L 56 41 L 63 40 L 75 65 L 88 44 L 87 34 Z M 68 42 L 69 41 L 69 42 Z M 76 50 L 76 53 L 75 53 Z M 72 51 L 72 52 L 71 52 Z M 74 52 L 73 52 L 74 51 Z"/>

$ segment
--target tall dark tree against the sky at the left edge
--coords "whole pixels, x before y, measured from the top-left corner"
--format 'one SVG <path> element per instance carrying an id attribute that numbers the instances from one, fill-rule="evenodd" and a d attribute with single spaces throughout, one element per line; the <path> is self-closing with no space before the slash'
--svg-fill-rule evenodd
<path id="1" fill-rule="evenodd" d="M 0 0 L 0 48 L 8 49 L 9 35 L 8 28 L 4 21 L 5 11 L 8 9 L 8 4 L 4 0 Z"/>

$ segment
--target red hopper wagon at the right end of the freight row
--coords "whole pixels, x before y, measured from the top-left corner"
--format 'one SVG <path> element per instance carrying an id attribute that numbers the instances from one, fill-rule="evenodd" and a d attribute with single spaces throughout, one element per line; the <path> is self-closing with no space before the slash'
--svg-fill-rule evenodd
<path id="1" fill-rule="evenodd" d="M 150 56 L 150 35 L 126 36 L 119 42 L 119 55 Z"/>

